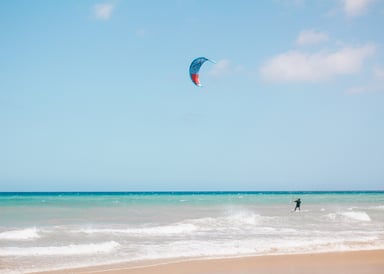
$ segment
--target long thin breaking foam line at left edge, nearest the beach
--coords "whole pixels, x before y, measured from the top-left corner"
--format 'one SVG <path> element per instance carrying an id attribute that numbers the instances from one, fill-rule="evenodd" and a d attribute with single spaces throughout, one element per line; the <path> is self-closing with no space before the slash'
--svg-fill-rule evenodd
<path id="1" fill-rule="evenodd" d="M 67 246 L 38 246 L 38 247 L 5 247 L 0 249 L 0 256 L 70 256 L 110 253 L 119 247 L 115 241 L 97 244 L 80 244 Z"/>

